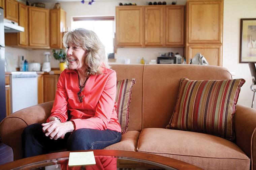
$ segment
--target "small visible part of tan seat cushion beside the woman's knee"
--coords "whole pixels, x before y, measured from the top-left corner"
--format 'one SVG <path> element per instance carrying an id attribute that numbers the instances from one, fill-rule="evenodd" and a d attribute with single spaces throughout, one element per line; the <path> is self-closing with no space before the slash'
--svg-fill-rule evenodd
<path id="1" fill-rule="evenodd" d="M 110 145 L 104 149 L 136 151 L 138 138 L 139 138 L 139 131 L 130 130 L 130 131 L 127 131 L 125 134 L 122 134 L 122 139 L 120 142 Z"/>

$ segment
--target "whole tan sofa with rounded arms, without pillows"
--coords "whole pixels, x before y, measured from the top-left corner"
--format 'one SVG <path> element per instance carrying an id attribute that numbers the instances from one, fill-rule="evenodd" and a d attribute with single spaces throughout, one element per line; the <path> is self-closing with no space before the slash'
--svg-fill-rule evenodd
<path id="1" fill-rule="evenodd" d="M 231 79 L 224 67 L 185 64 L 112 65 L 117 79 L 135 78 L 128 131 L 120 143 L 105 149 L 158 154 L 203 169 L 256 169 L 256 109 L 237 105 L 234 116 L 236 138 L 165 129 L 179 92 L 180 78 L 192 80 Z M 242 91 L 243 88 L 242 87 Z M 239 99 L 238 99 L 239 101 Z M 45 122 L 53 102 L 17 111 L 0 124 L 2 141 L 21 159 L 21 133 L 32 123 Z"/>

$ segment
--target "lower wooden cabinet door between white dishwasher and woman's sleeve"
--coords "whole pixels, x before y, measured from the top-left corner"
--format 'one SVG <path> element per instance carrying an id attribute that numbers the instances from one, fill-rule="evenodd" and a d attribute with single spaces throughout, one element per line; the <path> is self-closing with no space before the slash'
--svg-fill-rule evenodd
<path id="1" fill-rule="evenodd" d="M 43 75 L 43 102 L 49 102 L 55 99 L 58 79 L 59 74 Z"/>

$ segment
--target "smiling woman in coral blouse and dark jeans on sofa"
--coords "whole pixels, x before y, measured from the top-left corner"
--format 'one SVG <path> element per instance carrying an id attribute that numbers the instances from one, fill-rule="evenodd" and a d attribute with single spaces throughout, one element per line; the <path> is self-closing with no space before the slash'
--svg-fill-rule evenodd
<path id="1" fill-rule="evenodd" d="M 63 44 L 68 68 L 59 76 L 46 123 L 31 124 L 23 131 L 24 158 L 61 149 L 103 149 L 121 140 L 115 109 L 117 77 L 108 66 L 103 44 L 93 31 L 82 28 L 66 32 Z"/>

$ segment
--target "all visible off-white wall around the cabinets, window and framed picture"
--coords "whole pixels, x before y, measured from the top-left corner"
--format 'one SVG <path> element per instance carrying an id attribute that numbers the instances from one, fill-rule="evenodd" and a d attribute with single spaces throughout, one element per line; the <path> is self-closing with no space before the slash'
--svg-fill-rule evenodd
<path id="1" fill-rule="evenodd" d="M 134 0 L 137 5 L 146 5 L 148 0 Z M 73 16 L 99 16 L 115 15 L 115 6 L 119 2 L 129 3 L 131 1 L 96 1 L 93 5 L 81 2 L 61 2 L 61 7 L 67 12 L 67 27 L 71 25 Z M 152 1 L 153 2 L 153 1 Z M 171 1 L 166 1 L 167 4 Z M 177 0 L 178 5 L 184 5 L 186 0 Z M 46 3 L 46 8 L 53 8 L 55 3 Z M 223 66 L 229 71 L 235 72 L 233 78 L 244 78 L 246 83 L 242 87 L 238 103 L 251 106 L 252 95 L 250 91 L 251 74 L 248 64 L 239 63 L 239 41 L 240 41 L 240 18 L 255 18 L 255 0 L 224 0 L 223 18 Z M 28 61 L 43 61 L 43 52 L 49 50 L 21 50 L 6 47 L 6 52 L 18 56 L 20 53 L 25 55 Z M 51 51 L 51 50 L 50 50 Z M 117 62 L 123 63 L 125 58 L 130 58 L 131 64 L 139 63 L 139 58 L 145 57 L 146 60 L 156 59 L 159 52 L 179 52 L 183 55 L 182 48 L 119 48 L 117 50 Z M 58 62 L 52 59 L 52 67 L 58 67 Z M 255 104 L 256 105 L 256 104 Z"/>

